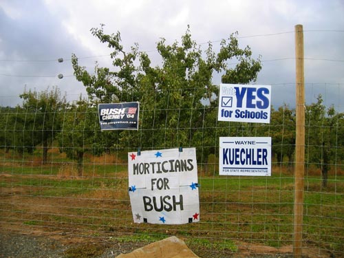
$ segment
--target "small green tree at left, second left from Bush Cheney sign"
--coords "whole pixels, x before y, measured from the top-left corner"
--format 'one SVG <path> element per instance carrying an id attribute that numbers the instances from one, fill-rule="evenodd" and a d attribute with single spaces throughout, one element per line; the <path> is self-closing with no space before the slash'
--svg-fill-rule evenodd
<path id="1" fill-rule="evenodd" d="M 43 145 L 43 162 L 47 162 L 47 151 L 61 128 L 61 111 L 65 109 L 66 99 L 57 87 L 52 90 L 26 91 L 20 95 L 27 119 L 26 126 L 32 129 L 32 147 Z"/>

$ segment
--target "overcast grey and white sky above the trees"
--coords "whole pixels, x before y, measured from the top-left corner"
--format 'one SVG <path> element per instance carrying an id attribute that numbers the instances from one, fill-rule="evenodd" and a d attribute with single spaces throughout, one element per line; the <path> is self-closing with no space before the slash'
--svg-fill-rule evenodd
<path id="1" fill-rule="evenodd" d="M 213 41 L 214 49 L 238 32 L 241 47 L 261 56 L 255 84 L 272 85 L 274 106 L 295 103 L 294 26 L 301 24 L 306 102 L 322 94 L 344 109 L 343 0 L 0 0 L 0 105 L 21 103 L 25 87 L 57 86 L 69 100 L 85 94 L 70 58 L 75 53 L 91 70 L 96 61 L 111 67 L 109 49 L 89 31 L 100 23 L 107 34 L 120 31 L 127 50 L 138 43 L 153 60 L 156 42 L 180 41 L 187 25 L 197 43 Z"/>

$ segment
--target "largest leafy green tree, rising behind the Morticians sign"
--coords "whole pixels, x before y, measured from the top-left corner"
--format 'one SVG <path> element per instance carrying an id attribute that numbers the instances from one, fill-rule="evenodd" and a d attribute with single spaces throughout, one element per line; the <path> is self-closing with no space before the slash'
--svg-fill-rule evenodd
<path id="1" fill-rule="evenodd" d="M 91 31 L 113 50 L 114 72 L 96 64 L 94 74 L 90 74 L 72 56 L 76 79 L 83 82 L 89 98 L 100 103 L 140 101 L 140 130 L 122 131 L 119 146 L 128 141 L 140 148 L 202 146 L 208 135 L 200 129 L 204 120 L 215 118 L 213 108 L 217 105 L 218 87 L 212 83 L 213 74 L 222 74 L 224 83 L 249 83 L 261 69 L 259 59 L 251 58 L 250 48 L 239 47 L 237 34 L 222 40 L 215 53 L 211 43 L 202 51 L 191 39 L 188 27 L 181 43 L 158 41 L 162 64 L 153 67 L 148 54 L 138 50 L 138 44 L 125 51 L 120 32 L 105 34 L 103 25 Z M 234 68 L 228 65 L 232 60 L 238 62 Z"/>

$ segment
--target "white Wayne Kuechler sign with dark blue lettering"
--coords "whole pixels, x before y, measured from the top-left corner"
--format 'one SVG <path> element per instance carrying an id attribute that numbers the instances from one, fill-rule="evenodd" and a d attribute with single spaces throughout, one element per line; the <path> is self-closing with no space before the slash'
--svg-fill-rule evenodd
<path id="1" fill-rule="evenodd" d="M 271 175 L 270 137 L 220 137 L 219 175 Z"/>

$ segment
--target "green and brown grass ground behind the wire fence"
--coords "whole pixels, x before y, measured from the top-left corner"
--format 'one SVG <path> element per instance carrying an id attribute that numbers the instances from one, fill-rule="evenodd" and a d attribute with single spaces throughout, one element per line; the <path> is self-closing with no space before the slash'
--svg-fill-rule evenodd
<path id="1" fill-rule="evenodd" d="M 116 233 L 116 241 L 149 243 L 176 235 L 189 246 L 230 252 L 237 250 L 235 240 L 274 247 L 292 244 L 294 178 L 284 167 L 274 167 L 268 178 L 202 176 L 200 222 L 161 226 L 133 224 L 127 165 L 118 158 L 88 156 L 78 176 L 73 162 L 56 150 L 50 162 L 39 165 L 32 156 L 0 155 L 0 217 L 9 224 L 63 228 L 78 235 Z M 61 169 L 66 163 L 67 169 Z M 342 173 L 330 174 L 325 189 L 319 173 L 308 174 L 303 219 L 308 243 L 344 250 L 343 196 Z"/>

